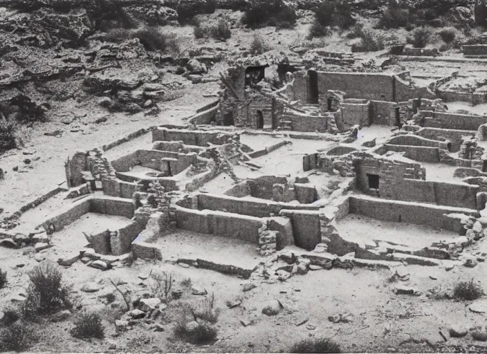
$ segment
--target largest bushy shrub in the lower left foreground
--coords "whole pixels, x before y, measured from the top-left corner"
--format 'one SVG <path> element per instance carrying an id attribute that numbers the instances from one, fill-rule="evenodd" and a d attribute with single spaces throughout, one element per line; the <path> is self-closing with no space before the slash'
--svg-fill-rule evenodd
<path id="1" fill-rule="evenodd" d="M 30 285 L 24 301 L 26 315 L 51 313 L 59 308 L 71 308 L 70 288 L 62 281 L 62 273 L 57 265 L 43 261 L 28 273 Z"/>

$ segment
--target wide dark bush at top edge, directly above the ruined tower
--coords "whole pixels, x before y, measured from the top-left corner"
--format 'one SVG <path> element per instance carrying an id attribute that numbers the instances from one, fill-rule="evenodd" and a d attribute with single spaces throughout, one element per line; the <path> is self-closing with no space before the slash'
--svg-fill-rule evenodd
<path id="1" fill-rule="evenodd" d="M 291 28 L 295 25 L 296 19 L 294 8 L 288 6 L 283 0 L 254 0 L 243 13 L 241 22 L 252 28 L 261 26 Z"/>

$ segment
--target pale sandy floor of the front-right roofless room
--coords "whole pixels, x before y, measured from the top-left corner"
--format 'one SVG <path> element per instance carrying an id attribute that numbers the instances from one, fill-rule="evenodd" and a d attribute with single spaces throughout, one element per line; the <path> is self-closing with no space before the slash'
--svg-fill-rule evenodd
<path id="1" fill-rule="evenodd" d="M 347 241 L 389 241 L 414 248 L 424 248 L 433 242 L 448 241 L 458 234 L 427 225 L 394 223 L 369 218 L 363 215 L 349 214 L 337 223 L 338 232 Z"/>

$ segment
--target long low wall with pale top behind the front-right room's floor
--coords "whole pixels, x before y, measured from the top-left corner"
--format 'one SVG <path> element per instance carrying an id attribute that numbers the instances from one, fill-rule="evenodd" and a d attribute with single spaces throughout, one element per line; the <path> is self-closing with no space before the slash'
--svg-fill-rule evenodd
<path id="1" fill-rule="evenodd" d="M 350 196 L 349 207 L 350 214 L 365 215 L 384 221 L 430 225 L 450 231 L 458 230 L 457 225 L 452 225 L 451 218 L 445 214 L 477 214 L 472 209 L 390 201 L 369 196 Z"/>

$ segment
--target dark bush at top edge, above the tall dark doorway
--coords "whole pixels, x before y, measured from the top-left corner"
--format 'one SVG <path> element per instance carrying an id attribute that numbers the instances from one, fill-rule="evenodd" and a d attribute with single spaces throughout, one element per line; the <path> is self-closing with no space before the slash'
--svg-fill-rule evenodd
<path id="1" fill-rule="evenodd" d="M 326 0 L 315 9 L 315 19 L 322 26 L 349 28 L 356 23 L 349 0 Z"/>

